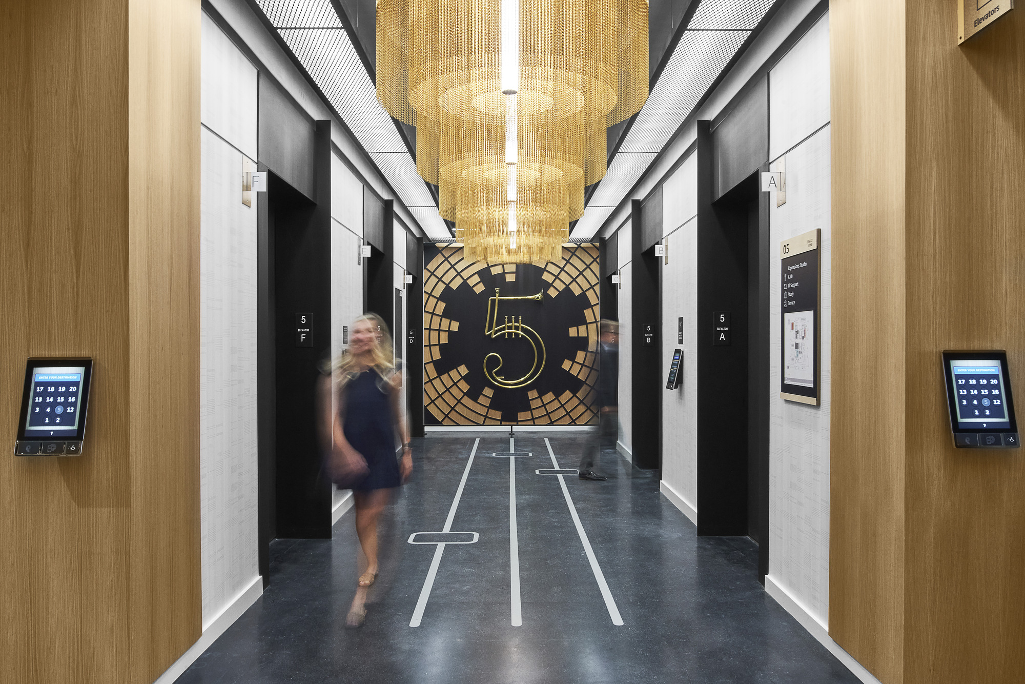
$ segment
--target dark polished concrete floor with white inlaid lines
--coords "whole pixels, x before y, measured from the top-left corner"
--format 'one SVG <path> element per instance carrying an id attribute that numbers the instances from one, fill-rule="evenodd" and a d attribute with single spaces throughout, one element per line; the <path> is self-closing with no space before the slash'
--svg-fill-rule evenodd
<path id="1" fill-rule="evenodd" d="M 858 682 L 757 581 L 746 538 L 697 537 L 652 473 L 607 452 L 606 482 L 566 477 L 622 615 L 612 623 L 551 468 L 576 468 L 583 439 L 522 433 L 516 458 L 522 627 L 510 625 L 508 437 L 481 442 L 419 627 L 410 627 L 475 437 L 418 440 L 415 473 L 381 525 L 381 574 L 366 623 L 345 629 L 356 586 L 353 514 L 325 540 L 272 546 L 263 596 L 178 678 L 179 684 L 622 684 Z"/>

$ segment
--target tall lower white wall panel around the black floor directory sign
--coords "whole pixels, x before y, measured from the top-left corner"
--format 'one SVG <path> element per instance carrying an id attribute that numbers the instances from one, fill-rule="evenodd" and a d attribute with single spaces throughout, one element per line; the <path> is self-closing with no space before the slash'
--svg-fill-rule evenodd
<path id="1" fill-rule="evenodd" d="M 772 206 L 770 251 L 769 573 L 828 625 L 829 598 L 829 127 L 786 155 L 786 204 Z M 777 245 L 822 229 L 820 406 L 783 401 L 780 389 L 780 260 Z"/>

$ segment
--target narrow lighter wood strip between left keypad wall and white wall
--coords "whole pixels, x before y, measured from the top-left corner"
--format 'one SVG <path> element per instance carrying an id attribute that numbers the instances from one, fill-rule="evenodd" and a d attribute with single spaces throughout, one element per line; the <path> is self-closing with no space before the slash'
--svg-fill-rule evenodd
<path id="1" fill-rule="evenodd" d="M 200 0 L 129 0 L 131 681 L 202 633 Z"/>

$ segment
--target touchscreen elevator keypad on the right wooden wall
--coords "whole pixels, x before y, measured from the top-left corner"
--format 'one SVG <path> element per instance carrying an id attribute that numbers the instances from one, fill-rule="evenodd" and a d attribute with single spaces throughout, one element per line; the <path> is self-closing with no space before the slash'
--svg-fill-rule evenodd
<path id="1" fill-rule="evenodd" d="M 944 352 L 943 377 L 957 448 L 1018 448 L 1006 352 Z"/>

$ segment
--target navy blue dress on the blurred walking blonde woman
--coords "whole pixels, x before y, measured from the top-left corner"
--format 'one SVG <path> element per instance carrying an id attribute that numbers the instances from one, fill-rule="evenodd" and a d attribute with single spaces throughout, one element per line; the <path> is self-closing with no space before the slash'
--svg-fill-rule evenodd
<path id="1" fill-rule="evenodd" d="M 367 459 L 370 472 L 353 489 L 369 491 L 402 484 L 395 455 L 395 428 L 387 381 L 373 370 L 351 379 L 343 390 L 345 417 L 342 430 L 353 448 Z"/>

